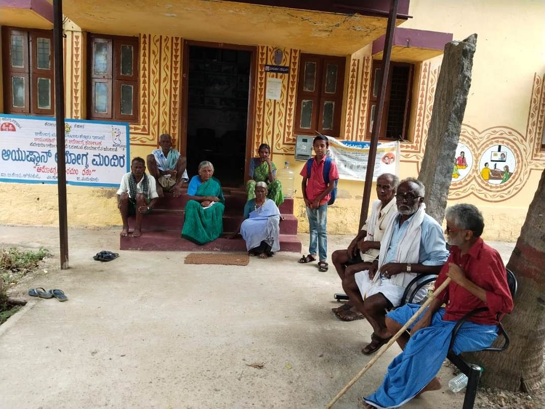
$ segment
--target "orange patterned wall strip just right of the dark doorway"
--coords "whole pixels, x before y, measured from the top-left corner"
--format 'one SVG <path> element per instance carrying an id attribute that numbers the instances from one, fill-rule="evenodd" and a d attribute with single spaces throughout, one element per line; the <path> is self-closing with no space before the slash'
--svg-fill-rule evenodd
<path id="1" fill-rule="evenodd" d="M 281 50 L 282 62 L 280 65 L 289 67 L 288 74 L 265 73 L 265 64 L 275 64 L 273 61 L 274 50 L 275 47 L 261 45 L 257 49 L 256 114 L 253 145 L 257 150 L 261 143 L 268 143 L 273 154 L 293 153 L 295 146 L 293 126 L 300 51 L 294 49 Z M 265 98 L 268 77 L 282 80 L 279 100 Z"/>

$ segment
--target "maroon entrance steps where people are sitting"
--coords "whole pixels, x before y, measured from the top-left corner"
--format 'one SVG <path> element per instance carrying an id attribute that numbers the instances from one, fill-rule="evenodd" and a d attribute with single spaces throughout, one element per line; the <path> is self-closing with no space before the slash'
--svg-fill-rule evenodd
<path id="1" fill-rule="evenodd" d="M 142 220 L 142 236 L 120 237 L 120 250 L 165 250 L 165 251 L 246 251 L 246 244 L 240 237 L 220 237 L 211 243 L 198 245 L 180 237 L 184 225 L 184 208 L 187 196 L 173 197 L 166 193 L 155 205 L 153 212 Z M 225 213 L 223 214 L 223 236 L 232 233 L 243 220 L 246 193 L 237 190 L 223 190 Z M 284 220 L 280 222 L 280 251 L 301 251 L 297 237 L 298 220 L 293 215 L 293 199 L 288 198 L 279 206 Z M 135 218 L 129 217 L 129 228 L 134 229 Z"/>

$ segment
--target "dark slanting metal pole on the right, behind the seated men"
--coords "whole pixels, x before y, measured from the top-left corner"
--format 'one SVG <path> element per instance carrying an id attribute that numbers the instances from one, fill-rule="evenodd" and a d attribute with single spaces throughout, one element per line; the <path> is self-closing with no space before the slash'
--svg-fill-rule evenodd
<path id="1" fill-rule="evenodd" d="M 373 118 L 373 129 L 371 130 L 371 146 L 369 147 L 369 159 L 367 160 L 367 173 L 365 175 L 364 199 L 361 202 L 360 228 L 367 220 L 369 211 L 369 201 L 371 199 L 371 188 L 373 185 L 373 172 L 375 159 L 377 156 L 378 136 L 382 124 L 382 113 L 384 111 L 384 98 L 386 96 L 386 87 L 388 85 L 388 73 L 390 71 L 390 57 L 392 55 L 393 32 L 396 28 L 397 4 L 399 0 L 391 0 L 390 13 L 386 27 L 386 38 L 384 41 L 384 53 L 382 58 L 382 82 L 380 86 L 380 95 L 378 97 L 378 106 Z M 384 124 L 385 125 L 385 124 Z"/>

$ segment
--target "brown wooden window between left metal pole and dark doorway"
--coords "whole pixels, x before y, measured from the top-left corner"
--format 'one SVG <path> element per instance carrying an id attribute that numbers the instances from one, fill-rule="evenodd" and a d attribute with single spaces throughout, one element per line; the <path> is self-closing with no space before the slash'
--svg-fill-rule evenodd
<path id="1" fill-rule="evenodd" d="M 138 38 L 90 34 L 88 118 L 138 121 Z"/>

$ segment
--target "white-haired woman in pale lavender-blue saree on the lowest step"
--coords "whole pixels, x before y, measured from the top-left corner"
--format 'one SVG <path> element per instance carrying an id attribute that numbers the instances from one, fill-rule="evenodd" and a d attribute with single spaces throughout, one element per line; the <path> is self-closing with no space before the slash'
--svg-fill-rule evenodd
<path id="1" fill-rule="evenodd" d="M 237 231 L 249 255 L 267 258 L 280 250 L 280 210 L 274 200 L 267 199 L 267 183 L 257 182 L 255 192 L 256 198 L 244 206 L 244 220 Z"/>

